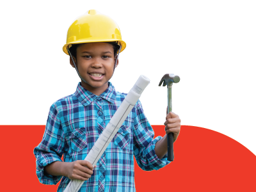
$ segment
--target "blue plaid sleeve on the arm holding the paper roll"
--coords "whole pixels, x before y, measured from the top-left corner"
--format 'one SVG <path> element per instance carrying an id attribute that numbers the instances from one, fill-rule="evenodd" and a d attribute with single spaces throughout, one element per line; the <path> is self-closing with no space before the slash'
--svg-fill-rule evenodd
<path id="1" fill-rule="evenodd" d="M 57 184 L 62 176 L 48 175 L 44 172 L 44 167 L 54 161 L 61 161 L 65 137 L 62 131 L 60 116 L 54 104 L 52 104 L 45 132 L 41 143 L 35 147 L 36 175 L 42 184 Z"/>

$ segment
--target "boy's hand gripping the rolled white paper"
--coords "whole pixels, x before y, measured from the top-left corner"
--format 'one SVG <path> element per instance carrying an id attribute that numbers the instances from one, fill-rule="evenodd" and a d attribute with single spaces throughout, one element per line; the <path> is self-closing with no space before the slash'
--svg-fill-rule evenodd
<path id="1" fill-rule="evenodd" d="M 94 167 L 96 167 L 96 165 Z M 65 175 L 67 175 L 69 179 L 88 180 L 92 173 L 92 163 L 85 160 L 77 160 L 67 164 Z"/>

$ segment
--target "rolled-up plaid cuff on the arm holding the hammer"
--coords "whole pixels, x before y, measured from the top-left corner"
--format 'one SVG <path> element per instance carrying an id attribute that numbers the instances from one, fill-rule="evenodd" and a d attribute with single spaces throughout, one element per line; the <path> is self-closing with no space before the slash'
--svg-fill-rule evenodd
<path id="1" fill-rule="evenodd" d="M 159 159 L 156 155 L 156 142 L 161 140 L 161 138 L 161 136 L 157 136 L 156 138 L 154 138 L 154 140 L 150 142 L 149 146 L 146 149 L 147 159 L 150 163 L 150 168 L 152 168 L 152 170 L 159 170 L 160 168 L 163 168 L 171 162 L 167 160 L 167 153 L 163 156 L 162 159 Z"/>

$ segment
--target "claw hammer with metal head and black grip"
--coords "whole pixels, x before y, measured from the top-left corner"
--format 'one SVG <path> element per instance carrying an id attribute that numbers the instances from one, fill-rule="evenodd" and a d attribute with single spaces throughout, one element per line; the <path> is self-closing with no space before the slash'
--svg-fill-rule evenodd
<path id="1" fill-rule="evenodd" d="M 167 84 L 167 89 L 168 89 L 168 113 L 172 111 L 172 84 L 173 83 L 179 83 L 180 77 L 176 76 L 174 74 L 165 74 L 159 85 L 163 83 L 163 86 L 166 86 Z M 169 132 L 167 135 L 167 160 L 168 161 L 173 161 L 174 155 L 173 155 L 173 132 Z"/>

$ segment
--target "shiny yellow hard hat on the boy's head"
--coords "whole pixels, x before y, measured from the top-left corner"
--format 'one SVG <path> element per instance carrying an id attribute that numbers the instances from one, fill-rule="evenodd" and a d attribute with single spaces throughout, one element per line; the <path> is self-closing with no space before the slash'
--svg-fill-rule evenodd
<path id="1" fill-rule="evenodd" d="M 92 42 L 117 42 L 122 45 L 120 52 L 126 47 L 116 22 L 96 10 L 89 10 L 72 23 L 68 28 L 67 44 L 63 46 L 63 51 L 68 54 L 67 47 L 72 44 Z"/>

